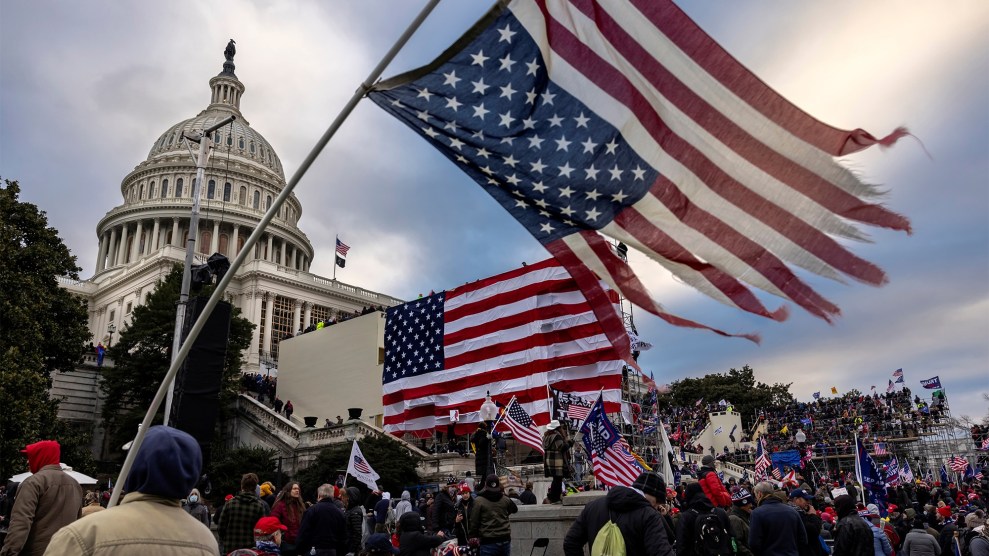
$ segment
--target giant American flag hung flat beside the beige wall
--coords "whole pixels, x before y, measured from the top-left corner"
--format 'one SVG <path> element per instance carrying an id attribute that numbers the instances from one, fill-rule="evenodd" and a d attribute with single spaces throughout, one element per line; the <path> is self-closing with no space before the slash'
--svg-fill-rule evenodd
<path id="1" fill-rule="evenodd" d="M 516 396 L 545 425 L 547 384 L 584 397 L 604 388 L 618 411 L 622 367 L 576 282 L 548 259 L 388 309 L 385 430 L 427 436 L 457 410 L 456 433 L 470 432 L 489 392 L 502 404 Z"/>

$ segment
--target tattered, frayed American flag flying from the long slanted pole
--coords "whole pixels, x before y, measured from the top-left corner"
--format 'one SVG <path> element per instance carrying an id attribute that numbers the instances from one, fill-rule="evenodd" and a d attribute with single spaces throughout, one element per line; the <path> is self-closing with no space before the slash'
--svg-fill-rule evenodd
<path id="1" fill-rule="evenodd" d="M 855 223 L 910 229 L 834 158 L 905 130 L 877 139 L 812 118 L 670 0 L 499 4 L 369 97 L 481 185 L 589 299 L 596 274 L 680 326 L 708 328 L 668 313 L 604 236 L 729 306 L 786 318 L 752 286 L 831 321 L 839 308 L 795 269 L 883 284 L 835 238 L 864 239 Z"/>

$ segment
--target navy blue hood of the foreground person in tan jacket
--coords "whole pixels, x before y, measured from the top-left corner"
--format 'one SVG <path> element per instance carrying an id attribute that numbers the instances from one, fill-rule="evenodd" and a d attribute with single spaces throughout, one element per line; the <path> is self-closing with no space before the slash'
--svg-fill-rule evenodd
<path id="1" fill-rule="evenodd" d="M 199 481 L 203 453 L 188 433 L 157 425 L 148 429 L 124 490 L 182 499 Z"/>

